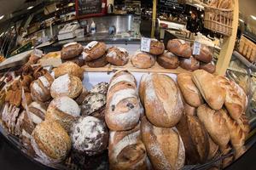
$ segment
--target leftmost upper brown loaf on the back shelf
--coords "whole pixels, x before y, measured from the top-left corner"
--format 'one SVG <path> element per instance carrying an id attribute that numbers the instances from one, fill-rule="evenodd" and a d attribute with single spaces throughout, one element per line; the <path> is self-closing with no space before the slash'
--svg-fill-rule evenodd
<path id="1" fill-rule="evenodd" d="M 61 49 L 61 59 L 73 59 L 83 52 L 84 48 L 78 42 L 67 43 Z"/>

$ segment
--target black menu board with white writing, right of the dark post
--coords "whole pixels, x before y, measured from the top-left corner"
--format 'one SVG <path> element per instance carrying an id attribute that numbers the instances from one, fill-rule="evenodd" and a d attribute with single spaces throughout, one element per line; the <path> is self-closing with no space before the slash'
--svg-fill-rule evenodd
<path id="1" fill-rule="evenodd" d="M 170 13 L 173 9 L 183 10 L 183 0 L 159 0 L 158 8 L 162 13 Z"/>

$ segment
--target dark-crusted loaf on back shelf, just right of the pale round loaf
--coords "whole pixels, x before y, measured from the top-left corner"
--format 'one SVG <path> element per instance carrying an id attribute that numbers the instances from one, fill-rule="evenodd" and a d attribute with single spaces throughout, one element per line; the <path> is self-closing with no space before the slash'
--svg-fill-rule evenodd
<path id="1" fill-rule="evenodd" d="M 179 65 L 178 57 L 167 50 L 164 54 L 158 56 L 156 60 L 157 63 L 165 69 L 177 69 Z"/>

